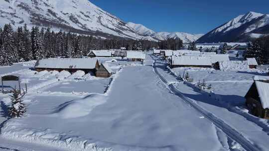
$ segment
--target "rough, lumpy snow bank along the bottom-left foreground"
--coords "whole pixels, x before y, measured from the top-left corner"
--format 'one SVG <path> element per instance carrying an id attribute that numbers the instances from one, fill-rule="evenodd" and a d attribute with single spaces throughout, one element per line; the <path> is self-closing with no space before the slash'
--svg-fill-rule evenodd
<path id="1" fill-rule="evenodd" d="M 8 125 L 4 125 L 1 136 L 9 140 L 46 144 L 69 151 L 112 151 L 111 148 L 100 148 L 95 143 L 88 143 L 88 141 L 77 136 L 67 136 L 63 133 L 52 132 L 50 129 L 13 129 L 19 127 L 19 125 L 20 123 L 16 121 L 8 122 Z"/>

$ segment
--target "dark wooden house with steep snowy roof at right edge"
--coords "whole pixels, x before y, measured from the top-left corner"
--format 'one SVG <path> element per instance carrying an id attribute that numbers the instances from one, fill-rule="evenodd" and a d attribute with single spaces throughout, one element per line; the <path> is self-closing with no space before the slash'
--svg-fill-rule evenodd
<path id="1" fill-rule="evenodd" d="M 245 98 L 250 114 L 269 119 L 269 78 L 255 76 Z"/>

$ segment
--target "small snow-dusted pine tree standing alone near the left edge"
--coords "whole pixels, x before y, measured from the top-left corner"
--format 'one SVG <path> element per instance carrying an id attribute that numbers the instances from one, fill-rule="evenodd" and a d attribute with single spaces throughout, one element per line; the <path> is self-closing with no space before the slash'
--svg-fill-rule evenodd
<path id="1" fill-rule="evenodd" d="M 12 90 L 11 105 L 9 106 L 8 113 L 11 118 L 19 118 L 26 112 L 25 104 L 23 103 L 23 96 L 25 93 L 20 94 L 17 89 Z"/>

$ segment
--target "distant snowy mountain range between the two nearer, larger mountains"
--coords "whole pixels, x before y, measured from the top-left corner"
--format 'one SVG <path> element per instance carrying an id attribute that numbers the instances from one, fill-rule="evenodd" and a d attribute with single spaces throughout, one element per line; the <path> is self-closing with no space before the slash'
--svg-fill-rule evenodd
<path id="1" fill-rule="evenodd" d="M 141 24 L 135 24 L 133 22 L 128 22 L 128 25 L 132 27 L 137 33 L 140 35 L 147 35 L 150 36 L 154 39 L 158 40 L 166 40 L 168 38 L 180 38 L 183 40 L 184 43 L 189 43 L 196 41 L 199 39 L 203 34 L 189 34 L 189 33 L 184 33 L 184 32 L 154 32 L 153 30 L 141 25 Z"/>

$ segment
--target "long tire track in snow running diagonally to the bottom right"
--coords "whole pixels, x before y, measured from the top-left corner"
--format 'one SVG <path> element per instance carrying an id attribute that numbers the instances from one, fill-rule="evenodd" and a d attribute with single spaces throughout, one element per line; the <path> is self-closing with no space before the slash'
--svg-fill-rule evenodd
<path id="1" fill-rule="evenodd" d="M 193 107 L 196 111 L 210 120 L 216 127 L 221 129 L 229 138 L 235 140 L 239 143 L 246 151 L 261 151 L 256 145 L 252 144 L 248 139 L 246 139 L 241 133 L 237 130 L 232 128 L 230 125 L 225 123 L 223 120 L 215 116 L 214 114 L 210 113 L 209 111 L 203 109 L 197 103 L 189 99 L 188 97 L 184 96 L 173 84 L 169 84 L 168 81 L 158 72 L 156 68 L 156 60 L 149 55 L 153 60 L 153 70 L 159 76 L 159 78 L 168 85 L 169 89 L 177 96 L 182 98 L 186 103 L 188 103 L 191 107 Z"/>

